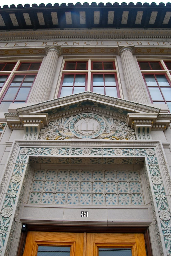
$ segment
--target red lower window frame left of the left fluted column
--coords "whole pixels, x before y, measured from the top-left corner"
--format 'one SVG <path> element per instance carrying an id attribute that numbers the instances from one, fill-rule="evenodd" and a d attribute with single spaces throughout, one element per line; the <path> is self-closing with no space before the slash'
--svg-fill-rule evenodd
<path id="1" fill-rule="evenodd" d="M 23 81 L 24 81 L 26 75 L 35 75 L 35 79 L 36 79 L 36 76 L 37 76 L 37 74 L 34 74 L 34 73 L 29 73 L 29 74 L 28 74 L 28 73 L 25 73 L 25 74 L 24 74 L 24 73 L 23 73 L 23 74 L 14 74 L 13 77 L 11 78 L 10 83 L 8 84 L 7 88 L 5 89 L 3 95 L 2 95 L 2 97 L 1 97 L 1 99 L 0 99 L 0 104 L 1 104 L 1 102 L 4 102 L 4 101 L 12 101 L 12 103 L 14 103 L 14 101 L 15 101 L 17 95 L 18 95 L 18 92 L 19 92 L 19 90 L 20 90 L 20 88 L 21 88 L 21 86 L 22 86 L 22 83 L 21 83 L 21 85 L 20 85 L 19 87 L 16 86 L 16 87 L 18 88 L 18 91 L 17 91 L 17 93 L 16 93 L 16 95 L 15 95 L 15 99 L 14 99 L 14 100 L 3 100 L 3 98 L 5 97 L 6 92 L 8 91 L 8 88 L 10 87 L 10 85 L 11 85 L 11 83 L 12 83 L 12 81 L 13 81 L 13 79 L 14 79 L 14 77 L 15 77 L 16 75 L 24 75 L 24 78 L 23 78 L 23 80 L 22 80 L 22 83 L 23 83 Z M 32 89 L 32 87 L 33 87 L 33 84 L 34 84 L 34 82 L 35 82 L 35 79 L 33 80 L 33 83 L 32 83 L 32 86 L 31 86 L 31 87 L 28 87 L 28 86 L 27 86 L 27 87 L 22 87 L 22 88 L 30 88 L 30 91 L 31 91 L 31 89 Z M 14 86 L 13 88 L 15 88 L 15 86 Z M 29 91 L 29 93 L 28 93 L 28 96 L 29 96 L 29 94 L 30 94 L 30 91 Z M 22 102 L 23 102 L 23 103 L 26 103 L 27 100 L 28 100 L 28 96 L 27 96 L 25 102 L 23 102 L 22 100 L 17 100 L 17 101 L 21 101 L 21 103 L 22 103 Z"/>

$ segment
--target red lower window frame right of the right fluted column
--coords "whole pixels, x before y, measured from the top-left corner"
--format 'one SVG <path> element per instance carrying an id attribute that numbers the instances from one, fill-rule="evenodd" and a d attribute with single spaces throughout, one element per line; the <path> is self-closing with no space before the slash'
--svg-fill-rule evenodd
<path id="1" fill-rule="evenodd" d="M 169 101 L 169 100 L 166 101 L 166 100 L 164 99 L 164 95 L 163 95 L 163 93 L 162 93 L 161 87 L 160 87 L 160 85 L 159 85 L 159 83 L 158 83 L 158 81 L 157 81 L 157 78 L 155 77 L 155 75 L 164 75 L 164 76 L 166 77 L 167 82 L 168 82 L 169 85 L 170 85 L 170 88 L 171 88 L 171 82 L 169 81 L 169 79 L 168 79 L 168 77 L 167 77 L 167 75 L 166 75 L 165 73 L 156 73 L 156 72 L 146 73 L 146 72 L 145 72 L 145 73 L 142 73 L 142 75 L 143 75 L 143 79 L 144 79 L 145 85 L 146 85 L 147 90 L 148 90 L 148 94 L 149 94 L 151 103 L 155 103 L 155 102 L 161 101 L 161 102 L 164 102 L 165 104 L 167 104 L 167 102 L 171 102 L 171 100 L 170 100 L 170 101 Z M 151 94 L 150 94 L 150 92 L 149 92 L 148 85 L 147 85 L 147 83 L 146 83 L 146 79 L 145 79 L 145 76 L 144 76 L 144 75 L 154 75 L 158 87 L 157 87 L 157 86 L 149 86 L 149 87 L 150 87 L 150 88 L 159 88 L 159 90 L 160 90 L 160 92 L 161 92 L 161 94 L 162 94 L 162 97 L 163 97 L 163 101 L 162 101 L 162 100 L 156 100 L 156 101 L 153 101 L 153 100 L 152 100 Z M 162 86 L 162 88 L 169 88 L 169 87 L 168 87 L 168 86 Z"/>

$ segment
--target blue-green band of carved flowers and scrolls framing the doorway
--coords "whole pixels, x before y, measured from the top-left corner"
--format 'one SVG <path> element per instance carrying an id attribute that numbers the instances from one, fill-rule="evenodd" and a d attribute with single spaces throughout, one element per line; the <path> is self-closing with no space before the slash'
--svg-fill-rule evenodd
<path id="1" fill-rule="evenodd" d="M 149 165 L 149 172 L 151 176 L 151 182 L 153 185 L 155 204 L 158 208 L 158 214 L 160 218 L 161 228 L 163 231 L 164 243 L 166 246 L 166 252 L 168 256 L 171 256 L 171 214 L 166 198 L 166 193 L 163 186 L 162 177 L 160 174 L 157 158 L 155 155 L 154 148 L 21 148 L 19 155 L 17 157 L 17 162 L 14 167 L 10 185 L 4 200 L 4 204 L 0 214 L 0 255 L 2 255 L 4 243 L 6 240 L 9 223 L 13 210 L 15 210 L 15 217 L 12 221 L 12 228 L 10 229 L 10 235 L 8 239 L 8 244 L 6 248 L 5 255 L 9 254 L 10 245 L 13 239 L 14 229 L 16 226 L 16 221 L 18 219 L 18 213 L 20 210 L 22 196 L 24 193 L 24 187 L 26 185 L 26 180 L 29 172 L 29 165 L 25 172 L 23 186 L 21 191 L 19 191 L 20 182 L 23 175 L 23 170 L 25 162 L 28 155 L 42 155 L 42 156 L 146 156 Z M 122 158 L 116 162 L 116 164 L 122 164 Z M 146 175 L 148 179 L 148 176 Z M 148 184 L 149 187 L 149 184 Z M 15 207 L 17 193 L 20 192 L 20 197 Z M 152 198 L 152 196 L 151 196 Z M 154 222 L 157 223 L 156 217 L 154 217 Z M 156 224 L 157 225 L 157 224 Z M 157 234 L 159 233 L 158 227 L 156 228 Z M 158 239 L 160 236 L 158 235 Z M 161 242 L 159 243 L 161 250 L 161 255 L 163 255 Z"/>

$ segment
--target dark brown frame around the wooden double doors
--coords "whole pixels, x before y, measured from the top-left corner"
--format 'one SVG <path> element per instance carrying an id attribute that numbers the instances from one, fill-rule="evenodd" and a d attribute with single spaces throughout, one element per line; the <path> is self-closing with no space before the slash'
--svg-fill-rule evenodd
<path id="1" fill-rule="evenodd" d="M 17 256 L 22 256 L 27 232 L 28 231 L 42 231 L 42 232 L 74 232 L 74 233 L 143 233 L 145 239 L 146 253 L 148 256 L 153 256 L 148 226 L 53 226 L 40 224 L 26 224 L 26 230 L 21 232 L 21 239 Z"/>

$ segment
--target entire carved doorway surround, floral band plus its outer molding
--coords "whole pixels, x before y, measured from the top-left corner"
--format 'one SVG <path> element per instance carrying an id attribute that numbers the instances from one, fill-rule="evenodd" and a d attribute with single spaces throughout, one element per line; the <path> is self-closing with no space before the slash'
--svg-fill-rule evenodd
<path id="1" fill-rule="evenodd" d="M 96 144 L 101 144 L 101 146 L 103 145 L 100 148 L 84 147 L 83 145 L 89 144 L 89 141 L 85 141 L 85 143 L 82 144 L 82 147 L 77 147 L 77 142 L 74 141 L 70 143 L 71 146 L 64 145 L 63 141 L 56 141 L 55 143 L 53 141 L 43 141 L 43 144 L 42 141 L 36 142 L 37 143 L 34 141 L 16 141 L 8 159 L 8 166 L 6 167 L 5 174 L 0 186 L 1 195 L 2 192 L 5 194 L 5 198 L 2 198 L 4 203 L 2 202 L 3 206 L 0 213 L 0 255 L 8 256 L 9 254 L 10 245 L 12 243 L 14 229 L 18 221 L 18 214 L 20 211 L 24 188 L 26 186 L 26 180 L 30 168 L 28 166 L 28 157 L 81 156 L 82 158 L 90 159 L 90 162 L 87 162 L 87 164 L 91 164 L 90 156 L 96 157 L 98 159 L 101 159 L 101 157 L 105 158 L 106 156 L 110 156 L 113 158 L 113 163 L 117 165 L 122 164 L 125 157 L 141 157 L 145 159 L 147 165 L 147 175 L 149 179 L 147 185 L 152 191 L 151 200 L 154 204 L 154 210 L 157 215 L 157 218 L 154 218 L 154 223 L 159 226 L 159 231 L 157 231 L 157 233 L 160 235 L 158 235 L 158 238 L 164 242 L 163 244 L 165 244 L 165 248 L 163 247 L 163 250 L 168 256 L 171 256 L 171 214 L 166 196 L 168 195 L 168 188 L 166 184 L 168 184 L 169 192 L 171 193 L 171 181 L 166 165 L 166 159 L 164 158 L 163 149 L 160 142 L 122 141 L 116 142 L 115 147 L 114 142 L 107 143 L 108 145 L 111 145 L 111 147 L 107 147 L 105 142 L 96 142 Z M 59 147 L 57 144 L 61 144 L 62 146 Z M 158 155 L 160 156 L 159 159 L 162 162 L 162 165 L 165 162 L 164 174 L 167 180 L 167 183 L 164 183 L 165 185 L 163 185 L 163 175 L 161 175 L 163 169 L 160 170 L 161 167 L 158 165 Z M 118 159 L 117 162 L 115 161 L 116 157 Z M 16 161 L 14 161 L 14 158 Z M 9 187 L 6 186 L 4 190 L 4 186 L 7 181 L 7 177 L 9 176 L 9 170 L 11 170 L 12 163 L 15 163 L 15 167 L 11 174 Z M 17 198 L 18 194 L 20 194 L 19 199 Z M 5 244 L 7 245 L 6 247 L 4 247 Z M 161 243 L 159 243 L 159 247 L 160 245 Z M 163 255 L 163 253 L 161 255 Z"/>

